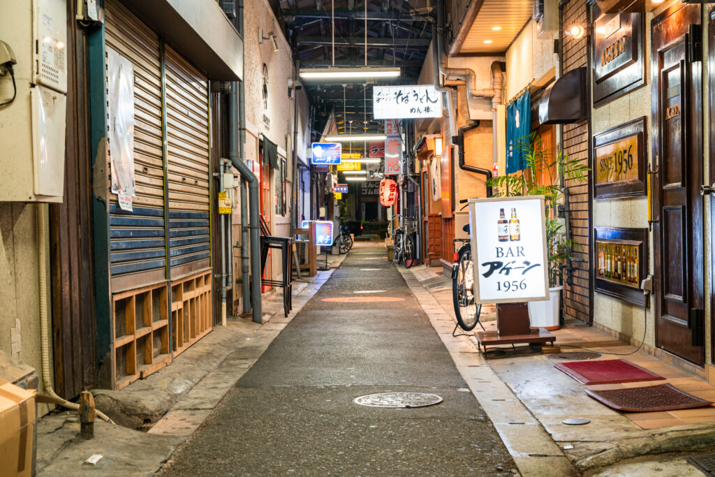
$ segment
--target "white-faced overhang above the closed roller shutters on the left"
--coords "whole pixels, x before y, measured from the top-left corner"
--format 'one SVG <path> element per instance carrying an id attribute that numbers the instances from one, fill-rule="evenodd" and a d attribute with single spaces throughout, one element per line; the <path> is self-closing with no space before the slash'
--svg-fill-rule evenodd
<path id="1" fill-rule="evenodd" d="M 243 40 L 215 0 L 123 0 L 209 79 L 243 76 Z"/>

